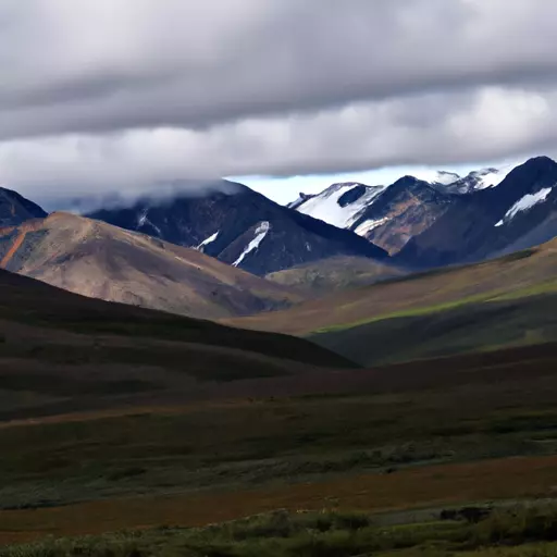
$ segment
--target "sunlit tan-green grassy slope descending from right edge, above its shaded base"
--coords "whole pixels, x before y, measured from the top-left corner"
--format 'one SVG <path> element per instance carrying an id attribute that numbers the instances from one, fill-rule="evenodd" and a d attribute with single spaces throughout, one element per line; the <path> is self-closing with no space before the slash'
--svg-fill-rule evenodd
<path id="1" fill-rule="evenodd" d="M 309 335 L 394 318 L 454 310 L 485 301 L 556 293 L 557 240 L 483 263 L 389 278 L 308 301 L 289 310 L 230 322 L 263 331 Z"/>

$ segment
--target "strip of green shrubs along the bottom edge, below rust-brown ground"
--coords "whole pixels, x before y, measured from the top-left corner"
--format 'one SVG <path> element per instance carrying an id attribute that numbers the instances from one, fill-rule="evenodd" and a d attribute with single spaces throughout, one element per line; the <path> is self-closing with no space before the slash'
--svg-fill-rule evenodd
<path id="1" fill-rule="evenodd" d="M 277 511 L 205 529 L 160 528 L 0 549 L 0 557 L 356 557 L 428 555 L 557 555 L 553 507 L 494 511 L 483 519 L 385 527 L 361 512 Z M 443 513 L 442 513 L 443 515 Z M 541 542 L 545 542 L 541 543 Z"/>

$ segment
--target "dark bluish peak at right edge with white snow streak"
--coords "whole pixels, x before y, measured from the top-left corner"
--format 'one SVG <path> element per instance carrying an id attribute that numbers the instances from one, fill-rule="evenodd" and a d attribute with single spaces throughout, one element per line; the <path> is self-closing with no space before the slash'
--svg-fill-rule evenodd
<path id="1" fill-rule="evenodd" d="M 407 243 L 398 261 L 416 267 L 481 261 L 557 236 L 555 161 L 530 159 L 495 185 L 458 196 L 459 202 Z"/>

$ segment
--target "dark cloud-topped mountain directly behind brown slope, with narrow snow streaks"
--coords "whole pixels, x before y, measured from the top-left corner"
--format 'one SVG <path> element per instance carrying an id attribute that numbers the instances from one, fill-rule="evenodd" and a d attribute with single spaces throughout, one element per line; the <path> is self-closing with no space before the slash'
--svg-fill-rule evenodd
<path id="1" fill-rule="evenodd" d="M 244 185 L 226 185 L 206 196 L 140 200 L 89 216 L 196 248 L 259 275 L 333 256 L 386 257 L 350 231 L 278 206 Z"/>

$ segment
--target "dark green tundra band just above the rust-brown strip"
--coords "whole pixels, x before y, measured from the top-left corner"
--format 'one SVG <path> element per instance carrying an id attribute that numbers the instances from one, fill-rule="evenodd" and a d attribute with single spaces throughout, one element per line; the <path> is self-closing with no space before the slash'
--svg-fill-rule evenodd
<path id="1" fill-rule="evenodd" d="M 387 369 L 367 383 L 355 371 L 342 395 L 244 396 L 0 428 L 0 507 L 557 455 L 554 360 L 534 356 Z"/>

